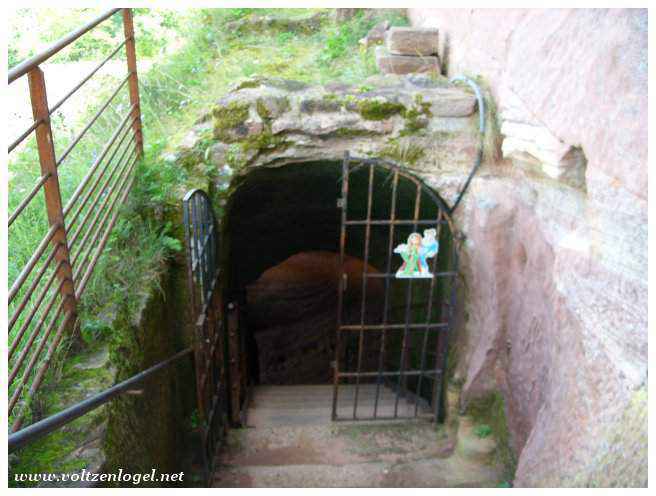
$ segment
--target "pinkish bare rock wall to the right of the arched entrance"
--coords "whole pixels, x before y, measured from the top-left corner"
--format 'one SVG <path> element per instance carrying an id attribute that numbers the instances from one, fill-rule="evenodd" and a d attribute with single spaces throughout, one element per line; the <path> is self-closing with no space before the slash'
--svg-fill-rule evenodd
<path id="1" fill-rule="evenodd" d="M 646 485 L 646 10 L 409 16 L 503 140 L 456 215 L 464 398 L 504 392 L 516 485 Z"/>

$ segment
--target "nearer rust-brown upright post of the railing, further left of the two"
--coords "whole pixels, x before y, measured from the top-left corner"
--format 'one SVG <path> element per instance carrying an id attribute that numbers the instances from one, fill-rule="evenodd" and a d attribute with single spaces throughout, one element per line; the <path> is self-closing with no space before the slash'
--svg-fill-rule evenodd
<path id="1" fill-rule="evenodd" d="M 41 164 L 41 174 L 48 179 L 43 184 L 43 192 L 46 200 L 46 211 L 48 223 L 51 226 L 58 225 L 59 228 L 52 238 L 54 249 L 57 250 L 55 260 L 62 261 L 57 278 L 64 283 L 61 287 L 61 297 L 64 300 L 64 311 L 73 313 L 73 322 L 77 313 L 77 300 L 75 299 L 75 286 L 73 283 L 73 272 L 66 240 L 66 225 L 64 223 L 64 211 L 62 208 L 61 192 L 59 189 L 59 176 L 57 174 L 57 160 L 55 159 L 55 146 L 52 139 L 52 128 L 50 127 L 50 112 L 48 110 L 48 96 L 46 93 L 46 82 L 43 71 L 39 66 L 27 74 L 30 88 L 30 101 L 32 103 L 32 115 L 35 122 L 41 122 L 35 129 L 35 138 Z"/>

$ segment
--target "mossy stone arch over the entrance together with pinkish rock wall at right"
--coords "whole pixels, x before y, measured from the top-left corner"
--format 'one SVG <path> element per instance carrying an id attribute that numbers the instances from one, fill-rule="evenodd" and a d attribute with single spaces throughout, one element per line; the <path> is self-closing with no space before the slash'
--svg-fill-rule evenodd
<path id="1" fill-rule="evenodd" d="M 463 404 L 503 392 L 517 486 L 646 485 L 645 11 L 411 16 L 439 27 L 449 76 L 482 75 L 492 109 L 454 219 Z M 244 81 L 174 158 L 232 171 L 224 190 L 258 167 L 391 157 L 453 204 L 477 155 L 473 94 L 422 74 L 364 86 Z"/>

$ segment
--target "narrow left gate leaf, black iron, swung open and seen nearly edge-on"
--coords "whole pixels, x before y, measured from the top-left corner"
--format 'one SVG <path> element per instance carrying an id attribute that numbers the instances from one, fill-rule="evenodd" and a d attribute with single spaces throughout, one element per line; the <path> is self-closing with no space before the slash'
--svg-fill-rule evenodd
<path id="1" fill-rule="evenodd" d="M 228 427 L 226 332 L 218 265 L 218 224 L 207 194 L 199 189 L 183 200 L 189 299 L 194 325 L 194 364 L 198 423 L 205 477 Z"/>

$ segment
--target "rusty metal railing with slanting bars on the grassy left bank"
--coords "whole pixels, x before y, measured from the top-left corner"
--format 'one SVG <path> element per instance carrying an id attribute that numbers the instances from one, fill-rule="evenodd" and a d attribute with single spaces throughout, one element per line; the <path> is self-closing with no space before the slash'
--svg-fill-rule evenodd
<path id="1" fill-rule="evenodd" d="M 123 40 L 93 70 L 77 82 L 54 105 L 48 102 L 47 85 L 41 65 L 62 49 L 112 16 L 120 14 Z M 88 123 L 67 144 L 55 152 L 52 115 L 98 71 L 125 49 L 127 74 Z M 117 221 L 119 207 L 134 181 L 134 170 L 143 155 L 143 137 L 135 37 L 131 9 L 111 9 L 71 32 L 36 56 L 9 71 L 9 84 L 27 77 L 33 123 L 9 145 L 11 154 L 34 133 L 40 177 L 8 218 L 8 229 L 25 215 L 26 209 L 43 191 L 49 229 L 9 288 L 9 417 L 11 432 L 21 428 L 30 401 L 44 380 L 53 356 L 65 336 L 73 334 L 77 307 L 94 267 L 103 253 Z M 117 95 L 127 88 L 129 108 L 95 156 L 74 192 L 63 203 L 60 171 Z M 29 219 L 27 220 L 29 222 Z M 11 247 L 10 247 L 11 250 Z"/>

